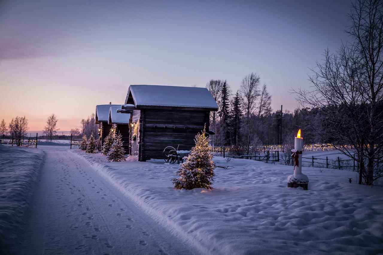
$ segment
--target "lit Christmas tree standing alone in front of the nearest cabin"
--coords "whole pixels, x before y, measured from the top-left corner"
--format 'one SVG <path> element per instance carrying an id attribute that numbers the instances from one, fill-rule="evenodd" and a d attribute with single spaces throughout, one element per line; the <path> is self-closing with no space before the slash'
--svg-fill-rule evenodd
<path id="1" fill-rule="evenodd" d="M 173 178 L 174 188 L 191 190 L 193 188 L 206 188 L 211 190 L 214 177 L 213 155 L 211 155 L 210 138 L 206 136 L 206 126 L 201 134 L 195 136 L 195 147 L 190 154 L 184 157 L 186 160 L 180 164 L 180 168 Z"/>

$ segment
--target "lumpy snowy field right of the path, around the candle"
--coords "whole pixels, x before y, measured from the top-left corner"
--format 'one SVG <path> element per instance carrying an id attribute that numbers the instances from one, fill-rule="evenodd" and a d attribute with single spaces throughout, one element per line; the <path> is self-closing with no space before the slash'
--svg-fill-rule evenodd
<path id="1" fill-rule="evenodd" d="M 291 166 L 233 159 L 213 190 L 175 190 L 177 164 L 107 162 L 72 150 L 155 220 L 208 254 L 383 252 L 383 189 L 349 183 L 354 172 L 303 167 L 309 190 L 287 188 Z"/>

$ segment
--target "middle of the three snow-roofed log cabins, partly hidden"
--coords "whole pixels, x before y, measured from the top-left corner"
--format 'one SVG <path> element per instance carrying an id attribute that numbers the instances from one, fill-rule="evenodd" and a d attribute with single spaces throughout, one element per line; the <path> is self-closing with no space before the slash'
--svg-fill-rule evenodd
<path id="1" fill-rule="evenodd" d="M 121 134 L 124 145 L 125 154 L 129 154 L 129 119 L 130 114 L 118 113 L 119 106 L 111 106 L 109 109 L 108 124 L 116 124 L 117 134 Z"/>

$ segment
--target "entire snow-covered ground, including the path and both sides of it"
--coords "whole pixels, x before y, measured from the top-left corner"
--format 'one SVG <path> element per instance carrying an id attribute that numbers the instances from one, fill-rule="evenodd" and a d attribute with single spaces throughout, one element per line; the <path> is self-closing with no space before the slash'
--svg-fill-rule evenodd
<path id="1" fill-rule="evenodd" d="M 291 166 L 214 157 L 234 168 L 216 168 L 213 190 L 176 190 L 162 160 L 6 145 L 0 159 L 5 254 L 383 253 L 383 188 L 355 172 L 303 167 L 304 191 L 286 187 Z"/>

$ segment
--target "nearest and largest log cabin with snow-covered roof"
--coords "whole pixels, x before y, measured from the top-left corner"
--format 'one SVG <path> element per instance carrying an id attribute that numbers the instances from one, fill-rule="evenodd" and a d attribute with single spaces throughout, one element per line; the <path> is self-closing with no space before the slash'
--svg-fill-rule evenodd
<path id="1" fill-rule="evenodd" d="M 218 105 L 206 88 L 130 85 L 121 112 L 131 113 L 130 154 L 160 159 L 167 146 L 190 150 Z M 213 132 L 210 132 L 213 134 Z"/>

